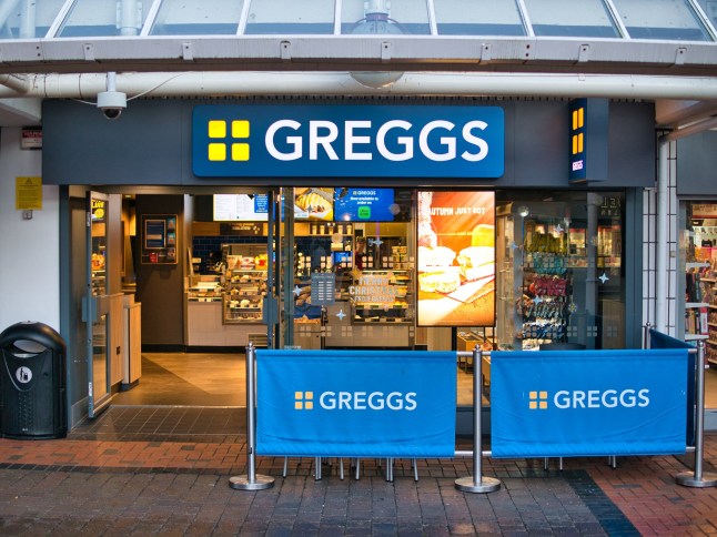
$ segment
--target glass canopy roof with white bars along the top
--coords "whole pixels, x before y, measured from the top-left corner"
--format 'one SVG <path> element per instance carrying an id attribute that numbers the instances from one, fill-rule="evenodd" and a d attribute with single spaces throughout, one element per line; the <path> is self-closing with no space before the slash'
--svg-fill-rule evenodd
<path id="1" fill-rule="evenodd" d="M 717 0 L 0 0 L 0 40 L 489 36 L 714 42 Z"/>

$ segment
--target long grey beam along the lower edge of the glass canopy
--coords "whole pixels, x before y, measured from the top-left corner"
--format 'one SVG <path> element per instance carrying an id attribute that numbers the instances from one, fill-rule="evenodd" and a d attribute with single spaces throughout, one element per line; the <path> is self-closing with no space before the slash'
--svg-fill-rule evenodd
<path id="1" fill-rule="evenodd" d="M 285 52 L 287 43 L 289 54 Z M 390 53 L 384 47 L 388 43 Z M 183 59 L 185 45 L 192 62 Z M 583 48 L 587 47 L 585 51 Z M 282 48 L 284 52 L 282 53 Z M 655 42 L 627 40 L 579 40 L 535 38 L 415 38 L 372 37 L 184 37 L 184 38 L 92 38 L 0 42 L 0 70 L 53 72 L 63 64 L 79 71 L 112 70 L 138 62 L 138 70 L 198 70 L 203 62 L 233 70 L 291 69 L 292 62 L 316 62 L 326 67 L 367 63 L 376 69 L 391 64 L 422 64 L 442 70 L 478 63 L 496 65 L 521 62 L 535 64 L 607 65 L 603 70 L 626 72 L 633 68 L 715 68 L 717 43 Z M 152 69 L 142 69 L 147 62 Z M 92 64 L 97 63 L 95 69 Z M 190 67 L 194 63 L 193 67 Z M 119 70 L 119 69 L 118 69 Z M 65 69 L 67 71 L 67 69 Z M 675 74 L 675 73 L 670 73 Z"/>

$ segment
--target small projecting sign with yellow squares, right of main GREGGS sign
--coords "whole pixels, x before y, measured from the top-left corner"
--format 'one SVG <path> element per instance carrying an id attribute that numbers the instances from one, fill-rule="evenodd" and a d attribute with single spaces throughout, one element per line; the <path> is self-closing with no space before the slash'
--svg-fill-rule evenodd
<path id="1" fill-rule="evenodd" d="M 570 111 L 570 183 L 607 181 L 609 100 L 575 99 Z"/>

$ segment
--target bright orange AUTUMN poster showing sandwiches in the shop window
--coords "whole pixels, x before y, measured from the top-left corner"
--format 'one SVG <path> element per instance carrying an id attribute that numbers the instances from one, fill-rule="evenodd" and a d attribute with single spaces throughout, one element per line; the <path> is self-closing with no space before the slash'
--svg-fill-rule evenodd
<path id="1" fill-rule="evenodd" d="M 495 324 L 495 193 L 418 192 L 420 326 Z"/>

